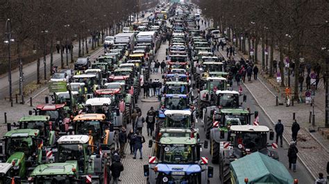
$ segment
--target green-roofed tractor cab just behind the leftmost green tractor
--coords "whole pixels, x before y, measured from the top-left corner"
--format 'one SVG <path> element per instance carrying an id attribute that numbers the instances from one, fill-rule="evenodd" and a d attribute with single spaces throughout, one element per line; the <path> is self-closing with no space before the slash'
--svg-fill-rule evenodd
<path id="1" fill-rule="evenodd" d="M 24 116 L 19 119 L 19 129 L 38 129 L 40 132 L 40 138 L 42 138 L 44 146 L 51 146 L 56 142 L 55 132 L 51 129 L 55 129 L 54 124 L 49 122 L 49 116 Z M 10 129 L 8 129 L 10 131 Z"/>

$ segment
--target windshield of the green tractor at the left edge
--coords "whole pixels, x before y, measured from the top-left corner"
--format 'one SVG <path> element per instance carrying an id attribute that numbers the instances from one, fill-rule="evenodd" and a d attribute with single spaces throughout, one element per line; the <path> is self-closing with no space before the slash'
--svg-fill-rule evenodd
<path id="1" fill-rule="evenodd" d="M 17 151 L 22 151 L 26 156 L 30 155 L 32 150 L 33 141 L 32 138 L 9 138 L 7 142 L 8 155 L 12 155 Z M 34 150 L 34 149 L 33 149 Z"/>

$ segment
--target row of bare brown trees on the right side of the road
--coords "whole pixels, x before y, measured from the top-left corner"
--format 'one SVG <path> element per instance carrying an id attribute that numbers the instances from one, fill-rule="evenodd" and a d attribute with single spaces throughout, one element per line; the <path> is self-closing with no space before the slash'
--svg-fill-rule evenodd
<path id="1" fill-rule="evenodd" d="M 262 66 L 264 53 L 269 44 L 269 66 L 273 66 L 273 49 L 280 51 L 280 61 L 289 57 L 294 61 L 294 73 L 299 73 L 301 59 L 306 63 L 325 66 L 328 57 L 329 2 L 326 0 L 194 0 L 203 15 L 214 20 L 214 26 L 228 31 L 235 38 L 239 50 L 249 54 L 248 48 L 258 49 L 262 45 Z M 214 6 L 216 5 L 216 6 Z M 242 37 L 242 39 L 241 39 Z M 268 43 L 266 43 L 268 42 Z M 255 52 L 255 61 L 258 53 Z M 284 72 L 281 62 L 280 73 Z M 323 67 L 322 67 L 323 68 Z M 272 67 L 269 67 L 272 77 Z M 281 86 L 285 86 L 284 75 Z M 295 75 L 294 97 L 298 97 L 298 75 Z"/>

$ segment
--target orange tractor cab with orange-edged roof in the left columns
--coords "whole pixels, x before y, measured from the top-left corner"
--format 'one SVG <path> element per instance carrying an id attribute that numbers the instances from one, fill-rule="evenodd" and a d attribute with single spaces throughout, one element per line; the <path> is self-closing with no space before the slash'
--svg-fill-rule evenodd
<path id="1" fill-rule="evenodd" d="M 89 136 L 89 145 L 108 144 L 110 140 L 110 122 L 105 114 L 85 113 L 73 119 L 74 134 Z M 93 148 L 92 148 L 93 149 Z"/>

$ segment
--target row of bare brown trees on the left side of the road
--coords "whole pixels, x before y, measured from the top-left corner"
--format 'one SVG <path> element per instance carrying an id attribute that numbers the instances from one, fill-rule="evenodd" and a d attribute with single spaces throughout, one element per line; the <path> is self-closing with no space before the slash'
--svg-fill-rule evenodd
<path id="1" fill-rule="evenodd" d="M 74 40 L 79 41 L 79 55 L 82 55 L 83 43 L 83 49 L 88 52 L 87 37 L 96 33 L 103 33 L 103 37 L 113 34 L 129 15 L 151 8 L 155 3 L 154 0 L 3 0 L 0 2 L 0 35 L 6 39 L 5 25 L 10 19 L 16 48 L 12 51 L 14 59 L 19 57 L 19 50 L 24 60 L 33 60 L 44 55 L 44 50 L 52 53 L 56 44 L 70 45 Z M 0 44 L 1 60 L 6 60 L 8 55 L 5 48 Z M 6 66 L 6 62 L 1 64 Z"/>

